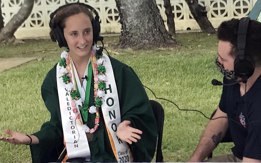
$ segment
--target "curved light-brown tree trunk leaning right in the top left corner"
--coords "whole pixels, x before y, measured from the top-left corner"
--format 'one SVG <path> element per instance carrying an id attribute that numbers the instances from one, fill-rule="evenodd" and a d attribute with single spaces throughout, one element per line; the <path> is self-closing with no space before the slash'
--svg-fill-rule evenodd
<path id="1" fill-rule="evenodd" d="M 15 31 L 24 23 L 24 21 L 31 14 L 34 7 L 34 0 L 24 0 L 24 3 L 20 10 L 11 18 L 0 32 L 0 41 L 14 42 L 16 41 L 13 35 Z"/>

